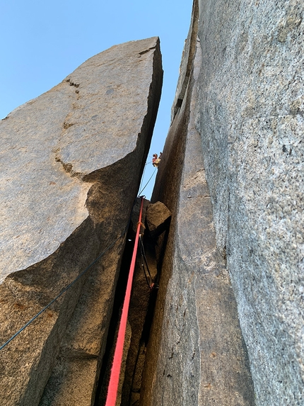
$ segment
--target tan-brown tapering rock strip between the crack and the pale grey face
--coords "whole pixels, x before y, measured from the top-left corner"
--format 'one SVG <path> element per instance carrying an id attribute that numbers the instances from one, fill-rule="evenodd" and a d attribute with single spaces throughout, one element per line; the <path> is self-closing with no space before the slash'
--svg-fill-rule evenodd
<path id="1" fill-rule="evenodd" d="M 255 405 L 237 305 L 226 262 L 216 248 L 201 138 L 195 129 L 200 65 L 198 50 L 152 196 L 152 201 L 160 199 L 168 206 L 173 219 L 141 406 Z"/>

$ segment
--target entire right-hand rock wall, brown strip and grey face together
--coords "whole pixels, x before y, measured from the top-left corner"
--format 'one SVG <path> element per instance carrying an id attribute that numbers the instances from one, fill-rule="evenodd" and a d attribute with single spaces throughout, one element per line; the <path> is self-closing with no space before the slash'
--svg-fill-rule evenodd
<path id="1" fill-rule="evenodd" d="M 141 405 L 303 404 L 302 73 L 301 1 L 194 1 Z"/>

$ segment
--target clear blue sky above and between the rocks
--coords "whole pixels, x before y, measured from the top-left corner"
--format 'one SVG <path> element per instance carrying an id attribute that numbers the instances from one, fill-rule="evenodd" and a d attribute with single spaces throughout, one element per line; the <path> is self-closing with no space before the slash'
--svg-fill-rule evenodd
<path id="1" fill-rule="evenodd" d="M 170 125 L 191 11 L 192 0 L 0 0 L 0 118 L 98 52 L 158 35 L 165 73 L 151 158 L 163 149 Z M 148 164 L 143 185 L 152 173 Z M 155 175 L 144 191 L 147 198 Z"/>

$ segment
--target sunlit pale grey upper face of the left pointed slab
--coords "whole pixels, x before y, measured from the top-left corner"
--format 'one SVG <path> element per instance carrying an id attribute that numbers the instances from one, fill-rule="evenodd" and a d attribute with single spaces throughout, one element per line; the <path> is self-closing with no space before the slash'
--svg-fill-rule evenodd
<path id="1" fill-rule="evenodd" d="M 88 217 L 94 178 L 136 149 L 155 47 L 101 52 L 1 120 L 1 281 L 52 254 Z"/>

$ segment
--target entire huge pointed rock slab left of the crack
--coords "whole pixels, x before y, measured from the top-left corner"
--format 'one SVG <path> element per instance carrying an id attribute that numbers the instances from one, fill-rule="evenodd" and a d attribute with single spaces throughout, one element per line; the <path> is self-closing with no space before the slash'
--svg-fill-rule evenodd
<path id="1" fill-rule="evenodd" d="M 85 360 L 84 380 L 86 371 L 95 374 L 88 373 L 84 386 L 90 388 L 81 403 L 77 392 L 77 404 L 90 405 L 162 77 L 158 38 L 116 45 L 0 123 L 0 343 L 116 240 L 1 350 L 0 405 L 37 405 L 60 345 L 59 358 L 73 362 L 62 370 L 57 363 L 56 376 L 73 365 L 82 371 L 78 365 Z M 82 378 L 74 377 L 78 385 Z"/>

